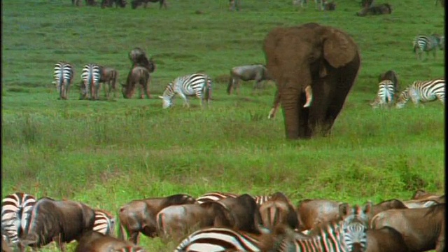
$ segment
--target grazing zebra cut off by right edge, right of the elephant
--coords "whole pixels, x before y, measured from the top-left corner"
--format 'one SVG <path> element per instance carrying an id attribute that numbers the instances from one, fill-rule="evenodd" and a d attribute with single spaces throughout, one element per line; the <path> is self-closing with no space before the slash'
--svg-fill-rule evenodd
<path id="1" fill-rule="evenodd" d="M 406 102 L 412 99 L 415 106 L 420 102 L 433 102 L 438 99 L 442 104 L 445 102 L 445 80 L 444 78 L 435 80 L 421 81 L 417 80 L 409 87 L 403 90 L 398 97 L 396 107 L 401 109 Z"/>

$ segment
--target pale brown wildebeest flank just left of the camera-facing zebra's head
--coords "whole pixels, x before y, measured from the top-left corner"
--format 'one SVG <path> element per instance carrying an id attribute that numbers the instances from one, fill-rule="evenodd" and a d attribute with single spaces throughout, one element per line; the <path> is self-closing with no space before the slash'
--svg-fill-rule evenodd
<path id="1" fill-rule="evenodd" d="M 311 230 L 319 223 L 327 223 L 339 218 L 339 202 L 332 200 L 302 200 L 297 206 L 299 231 Z"/>

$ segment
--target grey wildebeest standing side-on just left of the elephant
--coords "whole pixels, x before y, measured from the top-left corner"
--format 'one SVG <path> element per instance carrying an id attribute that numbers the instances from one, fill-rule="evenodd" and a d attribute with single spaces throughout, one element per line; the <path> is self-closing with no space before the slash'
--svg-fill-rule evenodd
<path id="1" fill-rule="evenodd" d="M 227 93 L 232 94 L 232 90 L 239 92 L 240 80 L 248 81 L 255 80 L 253 88 L 259 88 L 262 80 L 270 80 L 269 74 L 265 65 L 251 64 L 247 66 L 235 66 L 230 69 L 229 85 L 227 87 Z"/>

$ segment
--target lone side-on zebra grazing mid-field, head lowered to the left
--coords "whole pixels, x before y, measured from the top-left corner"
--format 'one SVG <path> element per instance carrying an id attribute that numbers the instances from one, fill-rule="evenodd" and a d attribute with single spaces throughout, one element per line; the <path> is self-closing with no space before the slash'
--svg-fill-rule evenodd
<path id="1" fill-rule="evenodd" d="M 167 109 L 173 105 L 174 95 L 178 94 L 185 101 L 184 106 L 190 107 L 188 97 L 196 96 L 200 99 L 201 106 L 204 104 L 204 99 L 207 99 L 207 104 L 211 99 L 211 79 L 203 73 L 193 73 L 188 76 L 178 77 L 173 82 L 167 85 L 163 96 L 163 108 Z"/>

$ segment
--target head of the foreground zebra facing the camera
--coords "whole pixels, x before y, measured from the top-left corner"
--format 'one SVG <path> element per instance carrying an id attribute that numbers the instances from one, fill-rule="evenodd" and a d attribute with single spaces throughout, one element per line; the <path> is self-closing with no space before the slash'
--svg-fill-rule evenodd
<path id="1" fill-rule="evenodd" d="M 346 246 L 346 251 L 365 251 L 367 248 L 367 225 L 372 202 L 364 208 L 349 204 L 339 205 L 339 216 L 342 218 L 342 242 Z"/>

